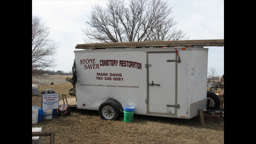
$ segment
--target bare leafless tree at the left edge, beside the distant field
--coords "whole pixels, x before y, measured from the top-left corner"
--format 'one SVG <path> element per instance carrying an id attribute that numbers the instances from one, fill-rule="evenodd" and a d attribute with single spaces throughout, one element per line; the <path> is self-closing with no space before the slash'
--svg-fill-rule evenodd
<path id="1" fill-rule="evenodd" d="M 49 28 L 42 22 L 38 16 L 32 16 L 32 82 L 33 77 L 43 76 L 43 69 L 55 66 L 54 54 L 58 46 L 49 38 Z"/>

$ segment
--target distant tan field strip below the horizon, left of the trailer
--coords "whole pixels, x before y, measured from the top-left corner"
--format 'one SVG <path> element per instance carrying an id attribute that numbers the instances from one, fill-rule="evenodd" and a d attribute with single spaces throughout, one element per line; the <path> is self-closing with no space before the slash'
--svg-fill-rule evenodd
<path id="1" fill-rule="evenodd" d="M 49 85 L 52 82 L 54 84 L 70 83 L 70 82 L 66 82 L 66 79 L 65 79 L 66 77 L 72 78 L 72 76 L 70 76 L 70 75 L 49 75 L 49 76 L 46 76 L 44 79 L 38 79 L 38 78 L 33 78 L 33 77 L 32 77 L 32 79 L 39 82 L 39 83 L 36 83 L 37 85 Z M 32 84 L 35 84 L 35 83 L 32 83 Z"/>

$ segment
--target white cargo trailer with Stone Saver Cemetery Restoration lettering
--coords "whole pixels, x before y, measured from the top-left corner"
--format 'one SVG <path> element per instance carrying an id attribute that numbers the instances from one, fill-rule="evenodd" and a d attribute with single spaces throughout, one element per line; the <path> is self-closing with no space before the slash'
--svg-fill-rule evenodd
<path id="1" fill-rule="evenodd" d="M 107 120 L 127 104 L 134 114 L 186 119 L 206 109 L 208 48 L 130 47 L 74 51 L 78 109 Z"/>

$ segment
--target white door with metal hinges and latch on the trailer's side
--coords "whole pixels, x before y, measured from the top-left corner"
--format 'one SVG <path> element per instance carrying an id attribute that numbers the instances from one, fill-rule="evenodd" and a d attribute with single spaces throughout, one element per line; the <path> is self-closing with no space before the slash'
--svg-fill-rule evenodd
<path id="1" fill-rule="evenodd" d="M 148 52 L 148 112 L 176 115 L 176 52 Z"/>

